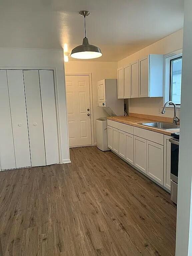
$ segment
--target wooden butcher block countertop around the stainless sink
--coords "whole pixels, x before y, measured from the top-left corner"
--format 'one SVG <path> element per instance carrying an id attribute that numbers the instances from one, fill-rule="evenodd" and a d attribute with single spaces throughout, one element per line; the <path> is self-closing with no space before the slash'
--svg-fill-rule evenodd
<path id="1" fill-rule="evenodd" d="M 107 117 L 107 119 L 112 120 L 112 121 L 116 121 L 116 122 L 119 122 L 119 123 L 123 123 L 123 124 L 136 126 L 136 127 L 142 128 L 142 129 L 153 131 L 153 132 L 162 133 L 162 134 L 169 135 L 169 136 L 171 136 L 171 133 L 175 133 L 175 132 L 180 131 L 180 129 L 161 130 L 161 129 L 158 129 L 158 128 L 155 128 L 155 127 L 150 127 L 150 126 L 145 126 L 145 125 L 139 124 L 139 123 L 158 122 L 157 118 L 155 118 L 156 120 L 149 119 L 149 118 L 146 119 L 146 118 L 143 118 L 143 116 L 141 116 L 141 117 L 114 116 L 114 117 Z M 162 121 L 162 120 L 159 120 L 159 121 Z M 167 121 L 164 121 L 164 122 L 167 122 Z"/>

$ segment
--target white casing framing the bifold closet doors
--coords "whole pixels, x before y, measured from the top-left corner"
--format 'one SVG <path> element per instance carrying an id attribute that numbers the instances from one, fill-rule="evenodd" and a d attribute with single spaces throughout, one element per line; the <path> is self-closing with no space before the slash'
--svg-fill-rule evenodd
<path id="1" fill-rule="evenodd" d="M 59 144 L 59 161 L 63 164 L 62 159 L 62 140 L 61 140 L 61 123 L 60 123 L 60 112 L 59 112 L 59 95 L 58 95 L 58 85 L 57 85 L 57 68 L 56 67 L 30 67 L 30 66 L 0 66 L 0 70 L 53 70 L 54 74 L 54 89 L 55 89 L 55 103 L 56 103 L 56 114 L 57 114 L 57 131 L 58 131 L 58 144 Z M 65 95 L 66 102 L 66 95 Z M 67 104 L 66 104 L 67 107 Z M 68 122 L 67 122 L 68 127 Z M 67 128 L 68 130 L 68 128 Z M 68 141 L 69 149 L 69 141 Z M 69 161 L 70 162 L 70 159 Z M 21 168 L 20 168 L 21 169 Z"/>

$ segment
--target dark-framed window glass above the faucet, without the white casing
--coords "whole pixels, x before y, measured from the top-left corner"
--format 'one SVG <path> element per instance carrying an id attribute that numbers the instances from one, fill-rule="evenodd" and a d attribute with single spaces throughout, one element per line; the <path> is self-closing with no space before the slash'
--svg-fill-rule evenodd
<path id="1" fill-rule="evenodd" d="M 181 105 L 181 72 L 182 56 L 170 60 L 170 93 L 169 100 Z"/>

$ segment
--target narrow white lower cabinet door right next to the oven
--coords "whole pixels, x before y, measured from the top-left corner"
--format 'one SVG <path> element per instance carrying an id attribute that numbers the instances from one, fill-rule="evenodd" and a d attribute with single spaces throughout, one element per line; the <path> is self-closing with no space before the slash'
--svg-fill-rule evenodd
<path id="1" fill-rule="evenodd" d="M 163 175 L 163 186 L 171 190 L 171 137 L 164 135 L 164 175 Z"/>

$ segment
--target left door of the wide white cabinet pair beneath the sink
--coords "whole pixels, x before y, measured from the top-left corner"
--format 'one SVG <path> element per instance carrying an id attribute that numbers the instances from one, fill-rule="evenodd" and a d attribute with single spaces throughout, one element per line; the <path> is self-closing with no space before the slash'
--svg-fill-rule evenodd
<path id="1" fill-rule="evenodd" d="M 147 140 L 134 136 L 134 166 L 147 173 Z"/>

